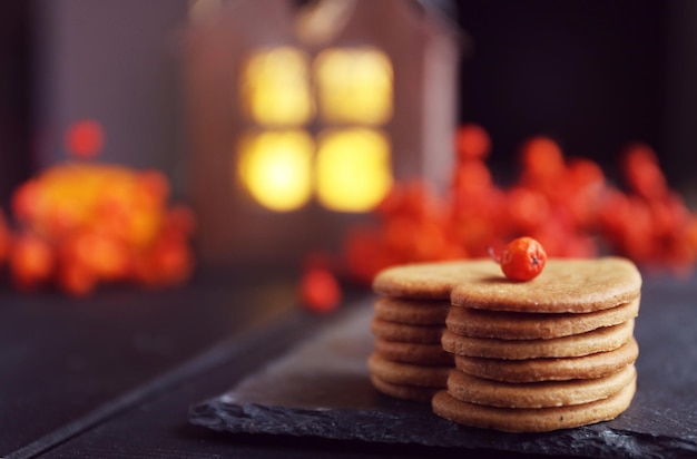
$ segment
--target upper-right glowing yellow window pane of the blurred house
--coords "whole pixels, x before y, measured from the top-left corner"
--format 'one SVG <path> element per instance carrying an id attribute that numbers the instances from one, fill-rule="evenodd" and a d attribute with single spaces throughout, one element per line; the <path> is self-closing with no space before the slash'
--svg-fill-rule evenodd
<path id="1" fill-rule="evenodd" d="M 322 116 L 379 125 L 392 117 L 392 64 L 374 48 L 327 49 L 315 61 Z"/>

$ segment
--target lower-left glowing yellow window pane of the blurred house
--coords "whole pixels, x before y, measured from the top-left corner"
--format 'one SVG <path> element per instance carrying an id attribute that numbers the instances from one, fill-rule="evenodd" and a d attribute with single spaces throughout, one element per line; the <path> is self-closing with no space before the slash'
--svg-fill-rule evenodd
<path id="1" fill-rule="evenodd" d="M 313 140 L 304 131 L 249 134 L 239 143 L 239 177 L 271 211 L 294 211 L 312 193 Z"/>

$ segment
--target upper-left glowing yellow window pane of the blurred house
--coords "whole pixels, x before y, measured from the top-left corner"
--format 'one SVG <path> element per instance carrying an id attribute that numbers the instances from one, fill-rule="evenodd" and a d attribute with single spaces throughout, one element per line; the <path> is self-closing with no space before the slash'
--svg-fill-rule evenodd
<path id="1" fill-rule="evenodd" d="M 291 47 L 253 53 L 240 85 L 247 116 L 264 125 L 306 123 L 314 115 L 307 62 L 304 52 Z"/>

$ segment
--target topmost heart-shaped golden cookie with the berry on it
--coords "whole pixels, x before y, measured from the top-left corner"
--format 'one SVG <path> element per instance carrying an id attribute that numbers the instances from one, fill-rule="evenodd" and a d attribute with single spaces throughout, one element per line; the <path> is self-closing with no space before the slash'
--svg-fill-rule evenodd
<path id="1" fill-rule="evenodd" d="M 458 306 L 520 312 L 592 312 L 639 297 L 641 275 L 628 260 L 551 258 L 532 281 L 508 280 L 491 260 L 389 267 L 375 292 L 397 297 L 448 299 Z"/>

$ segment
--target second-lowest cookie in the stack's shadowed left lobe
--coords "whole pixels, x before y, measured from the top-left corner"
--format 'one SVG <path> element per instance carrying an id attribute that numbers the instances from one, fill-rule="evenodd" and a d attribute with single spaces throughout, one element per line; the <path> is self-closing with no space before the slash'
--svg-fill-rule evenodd
<path id="1" fill-rule="evenodd" d="M 393 362 L 373 353 L 367 359 L 371 375 L 392 384 L 444 388 L 452 367 L 425 367 Z"/>

